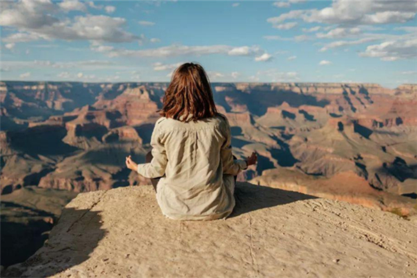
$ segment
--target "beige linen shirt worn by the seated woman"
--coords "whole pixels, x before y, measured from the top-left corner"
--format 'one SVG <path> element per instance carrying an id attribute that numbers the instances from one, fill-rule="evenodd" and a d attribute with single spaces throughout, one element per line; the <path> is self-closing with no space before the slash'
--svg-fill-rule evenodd
<path id="1" fill-rule="evenodd" d="M 138 165 L 143 177 L 162 177 L 156 200 L 175 220 L 226 218 L 235 206 L 234 175 L 246 161 L 231 154 L 231 131 L 224 115 L 181 122 L 161 117 L 151 138 L 152 161 Z"/>

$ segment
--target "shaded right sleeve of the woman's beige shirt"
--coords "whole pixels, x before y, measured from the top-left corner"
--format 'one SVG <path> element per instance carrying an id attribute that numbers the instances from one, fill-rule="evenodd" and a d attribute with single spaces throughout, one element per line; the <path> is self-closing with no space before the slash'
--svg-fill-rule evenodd
<path id="1" fill-rule="evenodd" d="M 243 159 L 234 159 L 231 152 L 231 131 L 230 124 L 226 117 L 226 125 L 224 128 L 225 140 L 220 150 L 220 156 L 223 163 L 223 174 L 231 174 L 236 176 L 241 170 L 247 169 L 247 163 Z"/>

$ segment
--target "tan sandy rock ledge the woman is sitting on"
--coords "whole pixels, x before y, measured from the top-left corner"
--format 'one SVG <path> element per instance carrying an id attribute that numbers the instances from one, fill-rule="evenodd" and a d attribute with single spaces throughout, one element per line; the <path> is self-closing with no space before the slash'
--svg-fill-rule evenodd
<path id="1" fill-rule="evenodd" d="M 238 183 L 227 220 L 165 218 L 150 186 L 80 194 L 22 277 L 416 277 L 417 221 Z"/>

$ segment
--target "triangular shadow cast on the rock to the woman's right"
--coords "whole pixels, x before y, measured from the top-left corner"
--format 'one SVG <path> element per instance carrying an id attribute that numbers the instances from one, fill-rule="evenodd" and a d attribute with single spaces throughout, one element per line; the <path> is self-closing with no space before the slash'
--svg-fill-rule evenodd
<path id="1" fill-rule="evenodd" d="M 262 208 L 270 208 L 304 199 L 316 198 L 311 195 L 279 188 L 255 186 L 252 183 L 238 183 L 235 188 L 236 206 L 229 218 L 234 218 L 238 215 L 257 211 Z"/>

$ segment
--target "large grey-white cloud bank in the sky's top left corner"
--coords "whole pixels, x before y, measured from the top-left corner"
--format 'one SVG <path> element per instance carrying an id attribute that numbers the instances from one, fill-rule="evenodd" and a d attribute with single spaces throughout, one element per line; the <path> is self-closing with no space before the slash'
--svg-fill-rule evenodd
<path id="1" fill-rule="evenodd" d="M 107 6 L 111 7 L 111 6 Z M 107 8 L 106 7 L 106 8 Z M 124 31 L 126 19 L 106 15 L 76 16 L 58 19 L 60 10 L 83 10 L 85 3 L 70 0 L 54 4 L 49 0 L 6 3 L 0 13 L 0 25 L 17 28 L 5 40 L 90 40 L 97 42 L 132 42 L 138 36 Z M 107 8 L 107 11 L 111 11 Z"/>

